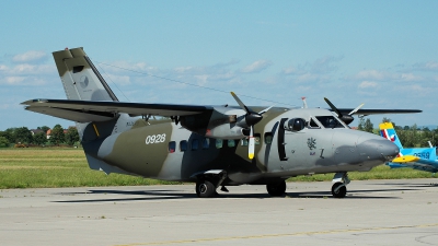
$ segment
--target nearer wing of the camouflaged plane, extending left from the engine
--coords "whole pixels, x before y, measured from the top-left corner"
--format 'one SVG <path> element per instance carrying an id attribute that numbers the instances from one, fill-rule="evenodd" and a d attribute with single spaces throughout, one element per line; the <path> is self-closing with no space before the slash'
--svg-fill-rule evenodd
<path id="1" fill-rule="evenodd" d="M 134 116 L 186 116 L 212 110 L 212 106 L 143 104 L 107 101 L 30 99 L 21 103 L 26 110 L 78 122 L 105 121 L 118 113 Z"/>

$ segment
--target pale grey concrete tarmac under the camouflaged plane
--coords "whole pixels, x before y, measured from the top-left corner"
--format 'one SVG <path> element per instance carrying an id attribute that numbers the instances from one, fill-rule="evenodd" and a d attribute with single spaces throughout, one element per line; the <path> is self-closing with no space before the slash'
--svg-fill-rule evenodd
<path id="1" fill-rule="evenodd" d="M 438 245 L 436 178 L 229 187 L 193 185 L 0 190 L 0 245 Z"/>

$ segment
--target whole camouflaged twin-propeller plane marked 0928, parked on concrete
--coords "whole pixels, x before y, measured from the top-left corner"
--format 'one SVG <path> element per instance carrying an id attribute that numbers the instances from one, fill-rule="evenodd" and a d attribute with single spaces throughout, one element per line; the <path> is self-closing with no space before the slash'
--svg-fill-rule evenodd
<path id="1" fill-rule="evenodd" d="M 369 171 L 399 154 L 394 143 L 351 130 L 322 108 L 247 107 L 234 93 L 239 106 L 118 102 L 82 48 L 54 58 L 68 99 L 22 104 L 76 121 L 90 167 L 106 174 L 194 181 L 196 194 L 207 198 L 219 186 L 242 184 L 266 185 L 269 195 L 280 196 L 289 177 L 335 173 L 332 194 L 342 198 L 347 172 Z"/>

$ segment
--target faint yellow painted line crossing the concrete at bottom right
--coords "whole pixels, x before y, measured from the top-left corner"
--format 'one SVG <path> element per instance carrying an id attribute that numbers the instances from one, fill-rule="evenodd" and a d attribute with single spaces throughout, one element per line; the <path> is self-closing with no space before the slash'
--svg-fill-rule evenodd
<path id="1" fill-rule="evenodd" d="M 338 233 L 368 232 L 368 231 L 382 231 L 382 230 L 399 230 L 399 229 L 422 229 L 422 227 L 437 227 L 437 226 L 438 226 L 438 224 L 419 224 L 419 225 L 400 225 L 400 226 L 383 226 L 383 227 L 345 229 L 345 230 L 328 230 L 328 231 L 319 231 L 319 232 L 297 232 L 297 233 L 283 233 L 283 234 L 265 234 L 265 235 L 249 235 L 249 236 L 226 236 L 226 237 L 212 237 L 212 238 L 199 238 L 199 239 L 162 241 L 162 242 L 150 242 L 150 243 L 132 243 L 132 244 L 119 244 L 119 245 L 115 245 L 115 246 L 193 244 L 193 243 L 219 242 L 219 241 L 261 239 L 261 238 L 284 237 L 284 236 L 323 235 L 323 234 L 338 234 Z"/>

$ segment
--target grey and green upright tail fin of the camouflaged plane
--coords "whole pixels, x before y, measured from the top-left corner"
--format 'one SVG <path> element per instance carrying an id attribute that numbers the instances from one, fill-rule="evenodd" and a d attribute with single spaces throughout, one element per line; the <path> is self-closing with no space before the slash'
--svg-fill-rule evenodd
<path id="1" fill-rule="evenodd" d="M 82 48 L 53 55 L 68 99 L 118 101 Z"/>

